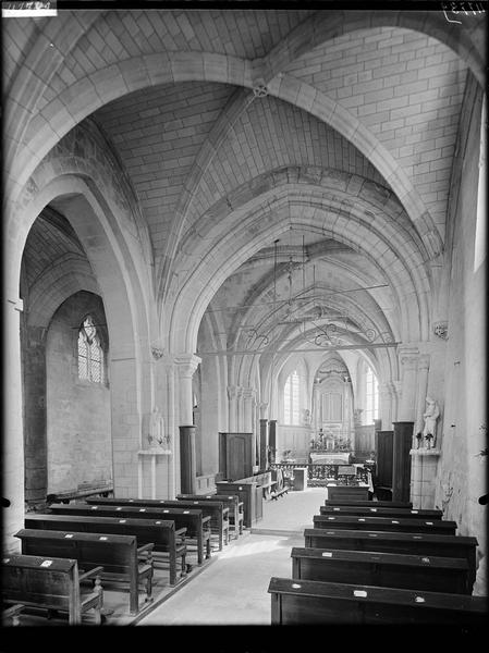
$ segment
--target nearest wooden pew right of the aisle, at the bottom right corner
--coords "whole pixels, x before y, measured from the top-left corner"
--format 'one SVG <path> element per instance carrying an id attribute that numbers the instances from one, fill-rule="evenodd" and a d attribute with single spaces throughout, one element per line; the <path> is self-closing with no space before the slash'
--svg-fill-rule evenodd
<path id="1" fill-rule="evenodd" d="M 487 596 L 272 577 L 271 625 L 484 626 Z"/>

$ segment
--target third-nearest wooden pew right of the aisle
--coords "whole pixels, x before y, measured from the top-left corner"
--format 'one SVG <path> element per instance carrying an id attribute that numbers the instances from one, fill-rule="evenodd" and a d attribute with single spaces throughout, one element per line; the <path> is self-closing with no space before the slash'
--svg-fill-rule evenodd
<path id="1" fill-rule="evenodd" d="M 389 531 L 358 531 L 306 528 L 307 549 L 342 549 L 349 551 L 376 551 L 407 553 L 441 557 L 462 557 L 468 563 L 469 582 L 476 578 L 477 539 L 462 535 L 432 535 Z"/>

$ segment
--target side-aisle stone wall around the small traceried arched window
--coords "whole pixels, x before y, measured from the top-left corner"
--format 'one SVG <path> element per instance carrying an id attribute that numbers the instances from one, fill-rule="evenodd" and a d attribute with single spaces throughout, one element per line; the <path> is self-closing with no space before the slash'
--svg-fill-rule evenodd
<path id="1" fill-rule="evenodd" d="M 95 317 L 96 323 L 105 323 L 101 299 L 90 293 L 77 293 L 59 308 L 48 331 L 46 394 L 49 493 L 75 489 L 83 482 L 113 478 L 110 391 L 107 381 L 91 383 L 78 379 L 77 373 L 76 326 L 88 312 Z"/>

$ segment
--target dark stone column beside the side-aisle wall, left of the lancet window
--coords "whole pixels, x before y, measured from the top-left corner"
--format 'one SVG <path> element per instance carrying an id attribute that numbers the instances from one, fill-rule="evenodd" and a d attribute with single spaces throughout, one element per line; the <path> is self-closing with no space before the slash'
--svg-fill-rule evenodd
<path id="1" fill-rule="evenodd" d="M 45 326 L 27 326 L 24 336 L 25 501 L 29 505 L 45 502 L 48 490 L 46 335 Z"/>

